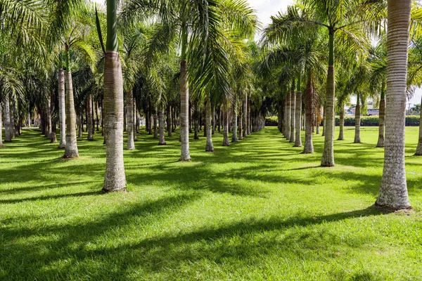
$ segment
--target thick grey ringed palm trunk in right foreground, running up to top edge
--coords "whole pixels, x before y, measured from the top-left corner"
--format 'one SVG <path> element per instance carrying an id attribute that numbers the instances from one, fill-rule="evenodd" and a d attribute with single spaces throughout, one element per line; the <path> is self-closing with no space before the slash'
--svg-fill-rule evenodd
<path id="1" fill-rule="evenodd" d="M 409 209 L 404 168 L 407 46 L 411 0 L 388 0 L 387 93 L 385 150 L 381 188 L 376 205 Z"/>

